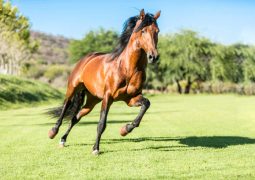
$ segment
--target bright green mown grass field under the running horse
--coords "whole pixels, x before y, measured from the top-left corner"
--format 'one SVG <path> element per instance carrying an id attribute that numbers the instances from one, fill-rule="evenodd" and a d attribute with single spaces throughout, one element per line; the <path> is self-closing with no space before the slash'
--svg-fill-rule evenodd
<path id="1" fill-rule="evenodd" d="M 0 111 L 1 179 L 254 179 L 255 97 L 157 95 L 139 128 L 119 128 L 139 108 L 115 103 L 93 156 L 99 107 L 74 127 L 67 147 L 47 137 L 48 106 Z M 55 103 L 55 105 L 58 103 Z"/>

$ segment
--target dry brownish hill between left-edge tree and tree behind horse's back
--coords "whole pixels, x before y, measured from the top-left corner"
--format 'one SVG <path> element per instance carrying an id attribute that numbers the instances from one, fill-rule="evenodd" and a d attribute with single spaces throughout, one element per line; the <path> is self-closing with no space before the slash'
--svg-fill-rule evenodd
<path id="1" fill-rule="evenodd" d="M 68 62 L 67 47 L 71 39 L 37 31 L 30 33 L 31 39 L 39 43 L 38 52 L 33 55 L 35 60 L 40 60 L 45 64 L 66 64 Z"/>

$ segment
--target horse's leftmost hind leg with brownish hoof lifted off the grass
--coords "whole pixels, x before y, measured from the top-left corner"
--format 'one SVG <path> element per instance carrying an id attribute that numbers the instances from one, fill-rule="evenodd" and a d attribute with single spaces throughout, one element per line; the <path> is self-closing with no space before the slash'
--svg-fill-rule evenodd
<path id="1" fill-rule="evenodd" d="M 74 87 L 68 87 L 67 92 L 66 92 L 66 99 L 64 101 L 64 105 L 61 110 L 59 119 L 57 120 L 55 126 L 52 129 L 50 129 L 48 132 L 48 136 L 50 139 L 53 139 L 57 135 L 59 127 L 61 126 L 62 120 L 65 116 L 65 113 L 71 104 L 71 99 L 72 99 L 73 94 L 74 94 Z"/>

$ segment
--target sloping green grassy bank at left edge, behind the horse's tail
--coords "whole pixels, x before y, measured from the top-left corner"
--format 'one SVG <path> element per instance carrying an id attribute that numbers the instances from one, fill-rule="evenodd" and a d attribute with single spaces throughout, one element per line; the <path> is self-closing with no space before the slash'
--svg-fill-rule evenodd
<path id="1" fill-rule="evenodd" d="M 56 100 L 61 97 L 62 93 L 59 90 L 47 84 L 0 75 L 0 110 Z"/>

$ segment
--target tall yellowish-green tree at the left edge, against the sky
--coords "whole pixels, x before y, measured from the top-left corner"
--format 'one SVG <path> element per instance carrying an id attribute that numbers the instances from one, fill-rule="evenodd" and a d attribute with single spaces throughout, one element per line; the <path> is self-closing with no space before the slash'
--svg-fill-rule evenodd
<path id="1" fill-rule="evenodd" d="M 30 59 L 36 44 L 29 39 L 29 22 L 9 2 L 0 1 L 0 70 L 19 74 L 22 62 Z"/>

